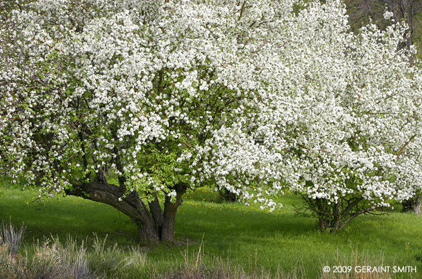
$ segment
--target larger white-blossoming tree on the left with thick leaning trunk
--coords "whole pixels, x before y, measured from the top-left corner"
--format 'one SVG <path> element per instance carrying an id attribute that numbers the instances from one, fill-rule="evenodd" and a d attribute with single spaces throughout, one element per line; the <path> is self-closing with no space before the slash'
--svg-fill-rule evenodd
<path id="1" fill-rule="evenodd" d="M 39 198 L 107 203 L 137 223 L 141 238 L 172 240 L 181 198 L 199 185 L 192 152 L 254 110 L 247 101 L 259 49 L 239 39 L 261 32 L 252 19 L 272 11 L 129 0 L 8 10 L 0 24 L 2 175 L 40 187 Z"/>

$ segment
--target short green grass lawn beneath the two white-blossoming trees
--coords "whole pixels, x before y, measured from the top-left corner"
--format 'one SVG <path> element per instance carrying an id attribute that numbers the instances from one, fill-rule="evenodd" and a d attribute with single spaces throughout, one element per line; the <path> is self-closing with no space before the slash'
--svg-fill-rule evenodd
<path id="1" fill-rule="evenodd" d="M 68 235 L 89 247 L 96 239 L 94 234 L 99 239 L 107 238 L 110 247 L 117 243 L 122 251 L 139 246 L 136 227 L 108 205 L 72 196 L 28 204 L 36 192 L 2 192 L 0 218 L 17 226 L 26 225 L 26 247 L 37 239 L 57 236 L 66 240 Z M 300 271 L 303 278 L 318 278 L 324 275 L 325 265 L 369 265 L 412 266 L 417 269 L 412 277 L 410 273 L 396 273 L 393 278 L 422 278 L 422 219 L 412 214 L 360 216 L 345 231 L 327 234 L 319 231 L 316 218 L 295 213 L 301 200 L 294 196 L 283 197 L 284 207 L 277 212 L 217 201 L 218 195 L 208 189 L 187 194 L 177 214 L 177 242 L 140 245 L 139 249 L 145 251 L 145 265 L 125 278 L 175 272 L 188 258 L 198 261 L 200 247 L 205 267 L 222 262 L 248 274 L 259 270 L 273 275 Z"/>

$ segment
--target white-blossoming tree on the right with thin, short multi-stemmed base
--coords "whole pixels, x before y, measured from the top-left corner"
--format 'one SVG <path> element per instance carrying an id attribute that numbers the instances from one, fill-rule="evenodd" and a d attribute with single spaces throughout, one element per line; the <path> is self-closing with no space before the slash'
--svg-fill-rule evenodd
<path id="1" fill-rule="evenodd" d="M 270 208 L 271 196 L 296 193 L 330 231 L 414 196 L 422 75 L 408 61 L 412 48 L 398 48 L 407 26 L 353 34 L 338 1 L 310 3 L 272 24 L 256 61 L 259 113 L 208 140 L 197 159 L 213 157 L 204 175 Z"/>

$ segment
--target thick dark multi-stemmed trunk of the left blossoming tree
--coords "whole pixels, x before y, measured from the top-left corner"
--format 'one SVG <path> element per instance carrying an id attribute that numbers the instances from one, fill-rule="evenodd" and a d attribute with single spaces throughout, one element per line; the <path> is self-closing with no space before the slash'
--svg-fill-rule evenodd
<path id="1" fill-rule="evenodd" d="M 173 240 L 174 219 L 185 191 L 185 185 L 177 185 L 176 201 L 171 203 L 170 197 L 166 196 L 164 211 L 161 210 L 157 196 L 148 204 L 148 209 L 136 191 L 126 193 L 124 187 L 110 185 L 104 181 L 75 185 L 73 189 L 66 190 L 66 194 L 111 205 L 137 224 L 141 240 L 159 242 Z"/>

